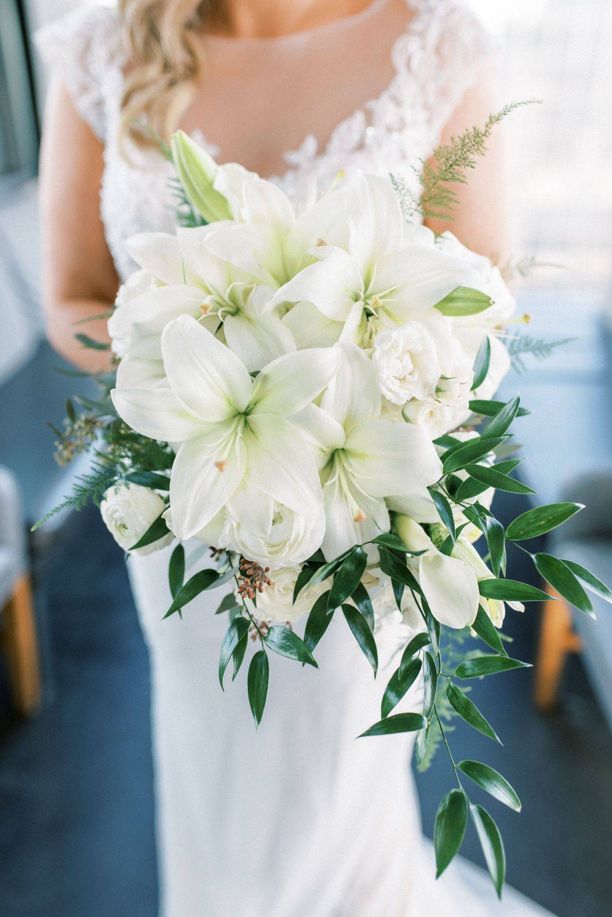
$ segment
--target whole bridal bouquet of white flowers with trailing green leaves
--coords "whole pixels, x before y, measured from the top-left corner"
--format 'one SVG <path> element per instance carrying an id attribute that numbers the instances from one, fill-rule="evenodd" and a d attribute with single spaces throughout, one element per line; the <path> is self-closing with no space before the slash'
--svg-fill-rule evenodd
<path id="1" fill-rule="evenodd" d="M 219 680 L 230 661 L 236 677 L 255 634 L 256 724 L 269 654 L 317 666 L 317 644 L 342 615 L 375 675 L 379 622 L 404 624 L 381 719 L 363 736 L 416 732 L 418 758 L 441 736 L 457 788 L 436 819 L 438 874 L 470 815 L 500 892 L 504 847 L 469 782 L 517 811 L 520 802 L 493 768 L 455 761 L 440 709 L 499 741 L 465 682 L 526 665 L 500 635 L 506 604 L 522 611 L 547 598 L 506 576 L 506 542 L 521 547 L 581 508 L 528 509 L 506 529 L 491 510 L 495 490 L 533 493 L 512 476 L 509 432 L 529 412 L 518 395 L 492 400 L 510 364 L 514 300 L 490 260 L 420 224 L 394 176 L 357 173 L 295 209 L 273 183 L 217 167 L 180 132 L 167 153 L 182 225 L 129 240 L 139 270 L 108 321 L 117 377 L 100 377 L 102 400 L 81 399 L 79 417 L 69 405 L 61 453 L 95 447 L 82 491 L 104 492 L 122 547 L 175 544 L 166 616 L 226 586 Z M 443 170 L 444 148 L 437 155 Z M 457 180 L 452 168 L 443 181 Z M 425 177 L 429 190 L 441 181 Z M 185 581 L 188 539 L 212 546 L 214 562 Z M 612 598 L 578 564 L 530 557 L 582 611 L 584 587 Z M 452 632 L 484 652 L 445 661 Z M 417 679 L 420 711 L 393 713 Z"/>

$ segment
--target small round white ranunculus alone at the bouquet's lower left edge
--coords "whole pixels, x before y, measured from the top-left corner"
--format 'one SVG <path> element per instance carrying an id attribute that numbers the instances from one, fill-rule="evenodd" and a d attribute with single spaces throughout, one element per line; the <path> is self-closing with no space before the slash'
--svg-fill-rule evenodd
<path id="1" fill-rule="evenodd" d="M 100 512 L 106 528 L 115 538 L 117 545 L 128 551 L 137 544 L 148 528 L 163 513 L 165 503 L 150 487 L 139 484 L 119 484 L 109 487 L 100 504 Z M 151 545 L 139 547 L 134 554 L 144 557 L 166 547 L 172 541 L 172 532 L 154 541 Z"/>

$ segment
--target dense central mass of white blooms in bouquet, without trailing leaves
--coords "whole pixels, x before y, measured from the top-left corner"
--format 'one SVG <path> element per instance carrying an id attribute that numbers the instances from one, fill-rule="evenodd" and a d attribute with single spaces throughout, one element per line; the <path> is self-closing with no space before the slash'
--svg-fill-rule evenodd
<path id="1" fill-rule="evenodd" d="M 297 213 L 273 183 L 217 167 L 184 135 L 173 150 L 208 222 L 129 240 L 139 271 L 108 323 L 113 403 L 176 449 L 174 535 L 269 566 L 270 602 L 284 606 L 318 548 L 335 558 L 388 532 L 390 510 L 438 519 L 433 440 L 495 391 L 514 301 L 489 260 L 407 223 L 386 178 L 355 174 Z M 421 580 L 460 563 L 432 557 Z"/>

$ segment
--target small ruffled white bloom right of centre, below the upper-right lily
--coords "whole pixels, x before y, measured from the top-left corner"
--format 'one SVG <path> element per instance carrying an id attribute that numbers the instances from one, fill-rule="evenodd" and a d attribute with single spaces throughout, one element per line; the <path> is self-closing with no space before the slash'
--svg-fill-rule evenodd
<path id="1" fill-rule="evenodd" d="M 372 361 L 381 392 L 394 404 L 428 398 L 440 378 L 436 345 L 420 322 L 406 322 L 376 337 Z"/>

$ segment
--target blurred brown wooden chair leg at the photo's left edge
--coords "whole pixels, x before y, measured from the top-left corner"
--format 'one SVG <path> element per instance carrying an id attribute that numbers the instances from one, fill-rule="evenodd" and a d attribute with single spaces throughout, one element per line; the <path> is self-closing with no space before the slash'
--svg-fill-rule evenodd
<path id="1" fill-rule="evenodd" d="M 21 576 L 0 616 L 9 678 L 19 713 L 30 716 L 40 702 L 39 648 L 32 590 L 28 576 Z"/>

